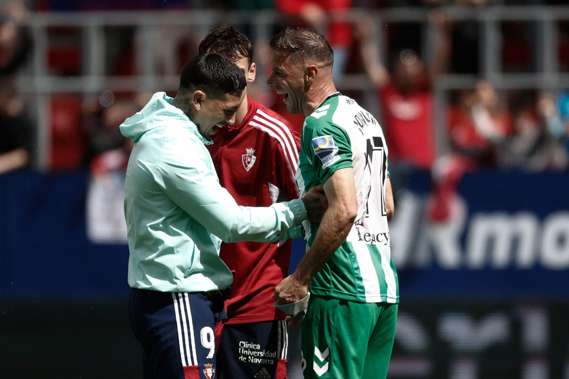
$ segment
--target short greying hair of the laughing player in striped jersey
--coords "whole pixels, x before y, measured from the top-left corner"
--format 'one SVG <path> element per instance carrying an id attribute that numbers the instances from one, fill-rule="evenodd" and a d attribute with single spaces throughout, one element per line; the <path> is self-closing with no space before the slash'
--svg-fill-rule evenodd
<path id="1" fill-rule="evenodd" d="M 271 39 L 276 52 L 288 53 L 295 63 L 315 60 L 324 66 L 334 63 L 334 52 L 328 41 L 314 29 L 287 27 Z"/>

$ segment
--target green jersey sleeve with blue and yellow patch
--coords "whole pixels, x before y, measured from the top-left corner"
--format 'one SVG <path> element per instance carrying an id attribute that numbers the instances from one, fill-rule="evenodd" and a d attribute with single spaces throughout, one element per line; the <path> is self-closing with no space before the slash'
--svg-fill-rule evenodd
<path id="1" fill-rule="evenodd" d="M 349 136 L 344 128 L 334 123 L 308 116 L 302 143 L 320 184 L 337 170 L 353 167 Z"/>

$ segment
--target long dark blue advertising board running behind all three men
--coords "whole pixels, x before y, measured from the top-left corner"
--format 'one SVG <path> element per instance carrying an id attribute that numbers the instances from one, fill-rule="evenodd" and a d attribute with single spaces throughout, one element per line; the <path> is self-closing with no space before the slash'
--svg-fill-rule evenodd
<path id="1" fill-rule="evenodd" d="M 428 221 L 424 177 L 399 191 L 390 223 L 406 299 L 569 295 L 569 174 L 477 172 L 450 220 Z M 86 234 L 87 172 L 0 176 L 0 296 L 126 295 L 125 244 Z M 294 241 L 291 268 L 304 254 Z"/>

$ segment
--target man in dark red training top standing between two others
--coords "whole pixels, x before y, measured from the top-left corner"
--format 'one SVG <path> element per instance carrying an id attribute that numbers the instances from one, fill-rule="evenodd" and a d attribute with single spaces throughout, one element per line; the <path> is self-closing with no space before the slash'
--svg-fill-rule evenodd
<path id="1" fill-rule="evenodd" d="M 255 80 L 251 41 L 233 27 L 210 31 L 199 52 L 226 56 L 243 70 L 247 82 Z M 294 181 L 299 146 L 298 132 L 284 118 L 246 96 L 235 124 L 220 128 L 208 149 L 221 185 L 238 205 L 269 206 L 299 197 Z M 221 245 L 220 257 L 234 281 L 226 301 L 229 321 L 219 340 L 219 377 L 286 378 L 286 315 L 273 307 L 271 295 L 288 276 L 291 245 L 290 240 Z"/>

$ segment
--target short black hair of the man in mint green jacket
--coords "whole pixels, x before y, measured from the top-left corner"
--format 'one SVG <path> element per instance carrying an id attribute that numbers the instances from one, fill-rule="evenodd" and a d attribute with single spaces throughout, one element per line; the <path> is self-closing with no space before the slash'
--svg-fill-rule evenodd
<path id="1" fill-rule="evenodd" d="M 247 81 L 241 69 L 217 53 L 193 57 L 180 74 L 180 90 L 199 89 L 215 98 L 224 94 L 241 95 L 246 86 Z"/>

